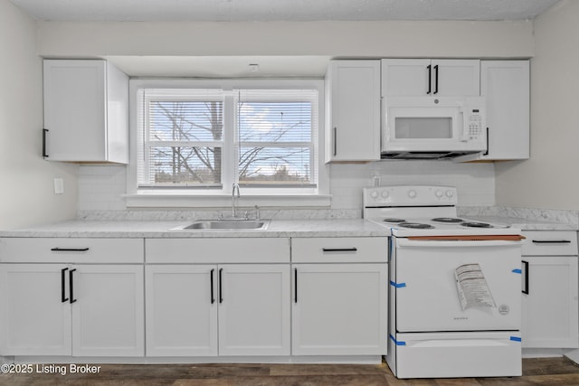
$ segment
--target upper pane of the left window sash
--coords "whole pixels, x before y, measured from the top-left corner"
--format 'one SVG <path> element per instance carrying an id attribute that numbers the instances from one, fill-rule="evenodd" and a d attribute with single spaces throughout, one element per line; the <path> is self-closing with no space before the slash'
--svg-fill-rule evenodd
<path id="1" fill-rule="evenodd" d="M 223 102 L 151 100 L 148 140 L 214 141 L 223 138 Z"/>

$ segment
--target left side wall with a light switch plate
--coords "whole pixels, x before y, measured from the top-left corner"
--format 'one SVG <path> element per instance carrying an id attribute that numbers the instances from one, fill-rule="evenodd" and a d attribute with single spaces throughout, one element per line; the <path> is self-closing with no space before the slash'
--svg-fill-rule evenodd
<path id="1" fill-rule="evenodd" d="M 72 218 L 77 209 L 76 166 L 43 161 L 42 60 L 36 24 L 0 0 L 0 229 Z M 65 194 L 52 192 L 64 179 Z"/>

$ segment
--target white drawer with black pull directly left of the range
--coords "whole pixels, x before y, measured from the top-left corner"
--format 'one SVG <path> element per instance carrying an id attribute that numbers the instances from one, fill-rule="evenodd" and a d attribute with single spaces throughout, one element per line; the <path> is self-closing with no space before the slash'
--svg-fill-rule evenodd
<path id="1" fill-rule="evenodd" d="M 387 260 L 385 237 L 291 239 L 294 263 L 385 263 Z"/>

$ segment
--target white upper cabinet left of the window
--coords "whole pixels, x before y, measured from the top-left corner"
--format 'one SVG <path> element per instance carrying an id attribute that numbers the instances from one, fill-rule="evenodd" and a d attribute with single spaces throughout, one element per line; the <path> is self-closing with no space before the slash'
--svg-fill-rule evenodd
<path id="1" fill-rule="evenodd" d="M 44 61 L 43 156 L 128 163 L 128 76 L 108 61 Z"/>

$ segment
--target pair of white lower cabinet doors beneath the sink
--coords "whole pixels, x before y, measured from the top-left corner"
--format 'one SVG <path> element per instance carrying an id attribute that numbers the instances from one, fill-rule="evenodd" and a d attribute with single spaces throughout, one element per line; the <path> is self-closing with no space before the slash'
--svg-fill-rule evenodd
<path id="1" fill-rule="evenodd" d="M 289 355 L 289 265 L 150 265 L 147 356 Z"/>

